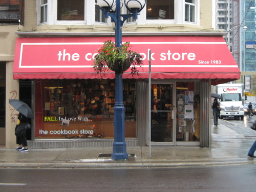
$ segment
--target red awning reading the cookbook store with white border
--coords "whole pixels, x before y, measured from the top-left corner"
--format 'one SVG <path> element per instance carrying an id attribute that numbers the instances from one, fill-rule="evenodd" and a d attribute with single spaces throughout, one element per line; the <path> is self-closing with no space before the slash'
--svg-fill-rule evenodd
<path id="1" fill-rule="evenodd" d="M 105 40 L 115 37 L 17 38 L 14 79 L 99 78 L 93 56 Z M 123 37 L 143 55 L 139 76 L 127 70 L 123 78 L 148 78 L 151 50 L 153 79 L 211 79 L 219 84 L 240 79 L 240 70 L 222 37 Z M 106 73 L 103 78 L 115 78 Z"/>

